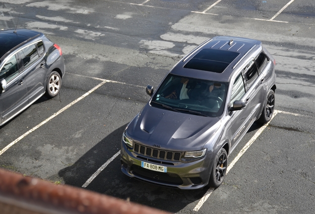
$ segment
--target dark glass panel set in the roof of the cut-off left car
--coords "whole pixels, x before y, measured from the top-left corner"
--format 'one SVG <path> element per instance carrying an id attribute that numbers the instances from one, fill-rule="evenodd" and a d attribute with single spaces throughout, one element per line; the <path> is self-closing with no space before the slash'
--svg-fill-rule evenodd
<path id="1" fill-rule="evenodd" d="M 11 34 L 11 33 L 0 33 L 0 58 L 15 46 L 28 40 L 29 37 Z"/>

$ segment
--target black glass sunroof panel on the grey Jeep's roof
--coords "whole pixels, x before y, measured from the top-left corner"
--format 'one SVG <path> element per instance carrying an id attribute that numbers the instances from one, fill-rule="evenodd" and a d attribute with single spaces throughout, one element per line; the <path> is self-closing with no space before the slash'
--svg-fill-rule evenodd
<path id="1" fill-rule="evenodd" d="M 184 68 L 222 73 L 238 55 L 236 52 L 203 49 L 190 59 Z"/>

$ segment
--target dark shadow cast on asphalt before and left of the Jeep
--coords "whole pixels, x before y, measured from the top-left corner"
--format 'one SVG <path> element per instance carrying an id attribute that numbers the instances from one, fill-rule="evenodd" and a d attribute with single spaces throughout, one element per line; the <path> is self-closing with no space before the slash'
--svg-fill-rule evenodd
<path id="1" fill-rule="evenodd" d="M 61 169 L 58 175 L 65 184 L 82 187 L 91 175 L 120 150 L 126 125 L 108 134 L 73 165 Z M 171 213 L 179 212 L 191 203 L 193 209 L 208 190 L 166 188 L 129 178 L 121 172 L 120 156 L 111 161 L 86 189 Z"/>

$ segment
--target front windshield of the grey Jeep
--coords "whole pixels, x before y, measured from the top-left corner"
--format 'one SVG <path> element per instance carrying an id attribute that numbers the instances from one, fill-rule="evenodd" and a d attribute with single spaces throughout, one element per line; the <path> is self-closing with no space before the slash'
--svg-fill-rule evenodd
<path id="1" fill-rule="evenodd" d="M 223 113 L 228 84 L 168 74 L 152 98 L 154 107 L 216 117 Z"/>

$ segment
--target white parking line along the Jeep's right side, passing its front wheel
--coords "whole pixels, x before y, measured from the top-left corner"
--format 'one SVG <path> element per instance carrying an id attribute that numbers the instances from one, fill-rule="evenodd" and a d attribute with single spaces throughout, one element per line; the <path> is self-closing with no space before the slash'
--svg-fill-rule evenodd
<path id="1" fill-rule="evenodd" d="M 277 115 L 278 112 L 283 112 L 283 111 L 274 110 L 270 121 L 273 119 L 273 117 L 275 115 Z M 247 144 L 243 147 L 243 149 L 239 152 L 239 154 L 235 157 L 235 159 L 228 165 L 228 167 L 226 169 L 226 174 L 231 170 L 231 168 L 234 166 L 234 164 L 242 157 L 242 155 L 244 155 L 246 150 L 248 150 L 248 148 L 250 148 L 250 146 L 254 143 L 254 141 L 262 134 L 262 131 L 268 126 L 270 121 L 267 122 L 266 124 L 264 124 L 260 129 L 258 129 L 258 131 L 254 134 L 254 136 L 247 142 Z M 213 190 L 214 190 L 214 188 L 209 188 L 209 190 L 200 199 L 200 201 L 198 202 L 198 204 L 196 205 L 196 207 L 194 208 L 193 211 L 198 212 L 200 210 L 200 208 L 207 201 L 207 199 L 209 198 L 209 196 L 211 195 Z"/>

